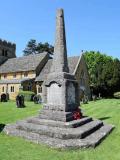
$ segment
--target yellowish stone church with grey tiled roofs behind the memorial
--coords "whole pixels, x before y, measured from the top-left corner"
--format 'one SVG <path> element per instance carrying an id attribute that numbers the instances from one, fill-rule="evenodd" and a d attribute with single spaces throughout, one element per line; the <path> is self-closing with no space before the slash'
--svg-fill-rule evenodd
<path id="1" fill-rule="evenodd" d="M 0 40 L 0 96 L 5 93 L 15 100 L 19 91 L 33 91 L 43 96 L 43 82 L 52 65 L 49 53 L 16 57 L 16 45 Z M 78 80 L 80 96 L 90 97 L 89 75 L 83 54 L 68 58 L 71 74 Z M 45 91 L 44 91 L 45 97 Z"/>

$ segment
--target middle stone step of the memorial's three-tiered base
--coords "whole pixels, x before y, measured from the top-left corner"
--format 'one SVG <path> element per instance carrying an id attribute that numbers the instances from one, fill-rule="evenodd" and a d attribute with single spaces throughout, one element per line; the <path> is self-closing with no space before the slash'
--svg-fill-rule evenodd
<path id="1" fill-rule="evenodd" d="M 45 125 L 37 125 L 33 123 L 28 123 L 26 121 L 19 121 L 17 122 L 17 129 L 38 133 L 40 135 L 46 135 L 54 138 L 76 139 L 88 136 L 92 132 L 99 129 L 102 125 L 102 121 L 94 120 L 78 128 L 59 128 Z"/>

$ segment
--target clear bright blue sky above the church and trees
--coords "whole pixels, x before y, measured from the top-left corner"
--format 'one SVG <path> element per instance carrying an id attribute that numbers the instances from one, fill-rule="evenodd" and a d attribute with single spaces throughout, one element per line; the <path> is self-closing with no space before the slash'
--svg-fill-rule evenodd
<path id="1" fill-rule="evenodd" d="M 92 50 L 120 58 L 120 0 L 0 0 L 0 38 L 16 43 L 18 57 L 30 39 L 54 45 L 58 8 L 68 56 Z"/>

